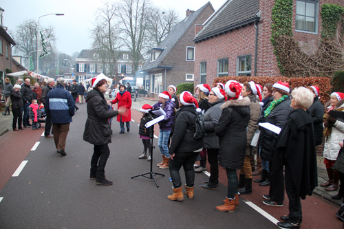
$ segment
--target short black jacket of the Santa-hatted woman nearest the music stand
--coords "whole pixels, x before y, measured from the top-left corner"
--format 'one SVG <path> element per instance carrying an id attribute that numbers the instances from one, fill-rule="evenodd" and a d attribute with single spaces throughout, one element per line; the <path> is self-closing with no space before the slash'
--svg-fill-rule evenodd
<path id="1" fill-rule="evenodd" d="M 193 138 L 196 131 L 195 113 L 194 106 L 182 106 L 178 109 L 175 114 L 169 154 L 189 153 L 203 148 L 203 138 Z"/>

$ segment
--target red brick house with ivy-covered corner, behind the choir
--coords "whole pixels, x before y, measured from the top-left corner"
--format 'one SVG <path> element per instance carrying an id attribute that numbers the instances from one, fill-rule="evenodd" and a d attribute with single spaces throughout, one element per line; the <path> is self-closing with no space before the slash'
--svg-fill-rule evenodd
<path id="1" fill-rule="evenodd" d="M 301 50 L 314 54 L 321 37 L 323 3 L 294 0 L 292 32 Z M 219 76 L 281 76 L 270 42 L 271 0 L 228 0 L 204 24 L 195 25 L 195 84 Z"/>

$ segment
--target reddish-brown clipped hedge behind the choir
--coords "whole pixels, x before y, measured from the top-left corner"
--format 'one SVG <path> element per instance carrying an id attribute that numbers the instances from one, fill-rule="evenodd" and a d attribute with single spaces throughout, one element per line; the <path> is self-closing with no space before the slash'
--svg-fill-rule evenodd
<path id="1" fill-rule="evenodd" d="M 319 87 L 319 100 L 323 103 L 323 105 L 325 105 L 325 102 L 330 100 L 330 94 L 333 91 L 331 78 L 327 77 L 289 78 L 271 76 L 228 76 L 215 78 L 215 80 L 213 81 L 213 87 L 216 86 L 216 83 L 225 84 L 228 80 L 237 80 L 239 83 L 254 81 L 255 83 L 263 87 L 267 83 L 277 83 L 277 81 L 282 80 L 283 82 L 289 83 L 290 89 L 301 86 L 316 86 Z"/>

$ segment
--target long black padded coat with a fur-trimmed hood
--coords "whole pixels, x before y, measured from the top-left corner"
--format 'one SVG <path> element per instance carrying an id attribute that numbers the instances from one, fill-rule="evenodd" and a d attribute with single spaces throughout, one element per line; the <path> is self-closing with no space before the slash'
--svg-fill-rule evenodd
<path id="1" fill-rule="evenodd" d="M 244 164 L 247 125 L 250 120 L 250 99 L 228 100 L 222 106 L 222 115 L 215 127 L 219 137 L 219 165 L 239 169 Z"/>

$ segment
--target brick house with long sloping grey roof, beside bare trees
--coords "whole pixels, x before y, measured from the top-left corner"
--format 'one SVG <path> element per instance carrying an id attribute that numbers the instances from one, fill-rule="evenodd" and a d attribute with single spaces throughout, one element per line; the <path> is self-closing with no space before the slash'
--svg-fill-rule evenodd
<path id="1" fill-rule="evenodd" d="M 202 24 L 215 12 L 210 2 L 197 11 L 187 10 L 158 47 L 149 50 L 150 58 L 142 67 L 144 89 L 157 97 L 169 85 L 193 82 L 195 61 L 195 24 Z"/>

